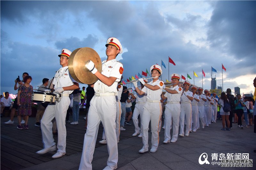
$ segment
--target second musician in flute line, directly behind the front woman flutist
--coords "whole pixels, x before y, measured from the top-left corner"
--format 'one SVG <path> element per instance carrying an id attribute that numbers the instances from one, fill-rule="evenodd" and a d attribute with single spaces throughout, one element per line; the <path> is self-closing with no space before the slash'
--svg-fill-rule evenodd
<path id="1" fill-rule="evenodd" d="M 180 75 L 179 74 L 172 74 L 172 87 L 171 88 L 164 88 L 166 93 L 162 95 L 162 99 L 167 98 L 167 104 L 165 105 L 164 111 L 164 122 L 165 122 L 165 129 L 164 129 L 164 143 L 167 144 L 171 140 L 171 126 L 173 127 L 172 130 L 172 140 L 171 142 L 174 143 L 178 139 L 179 133 L 179 121 L 180 121 L 180 97 L 182 94 L 182 88 L 179 87 Z M 173 123 L 173 125 L 172 125 Z"/>

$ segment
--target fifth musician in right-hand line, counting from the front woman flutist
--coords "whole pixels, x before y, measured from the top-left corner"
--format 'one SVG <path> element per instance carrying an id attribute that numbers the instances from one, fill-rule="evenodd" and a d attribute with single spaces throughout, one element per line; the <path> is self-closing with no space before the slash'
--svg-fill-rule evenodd
<path id="1" fill-rule="evenodd" d="M 197 88 L 199 99 L 200 99 L 197 106 L 198 106 L 198 111 L 199 111 L 199 120 L 201 122 L 202 128 L 204 129 L 204 125 L 205 125 L 205 121 L 204 121 L 204 112 L 205 112 L 204 111 L 204 102 L 206 101 L 206 96 L 204 94 L 202 94 L 203 90 L 204 89 L 202 87 Z"/>

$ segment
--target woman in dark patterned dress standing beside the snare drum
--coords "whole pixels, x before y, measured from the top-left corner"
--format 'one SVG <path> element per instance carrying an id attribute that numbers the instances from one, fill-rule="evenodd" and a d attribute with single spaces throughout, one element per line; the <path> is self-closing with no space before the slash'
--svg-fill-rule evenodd
<path id="1" fill-rule="evenodd" d="M 28 116 L 32 113 L 32 103 L 31 103 L 31 95 L 33 92 L 33 87 L 30 85 L 32 80 L 31 76 L 26 76 L 24 78 L 24 84 L 20 85 L 18 89 L 18 96 L 17 96 L 17 105 L 18 105 L 18 123 L 17 129 L 28 129 Z M 21 116 L 25 116 L 25 126 L 20 123 Z"/>

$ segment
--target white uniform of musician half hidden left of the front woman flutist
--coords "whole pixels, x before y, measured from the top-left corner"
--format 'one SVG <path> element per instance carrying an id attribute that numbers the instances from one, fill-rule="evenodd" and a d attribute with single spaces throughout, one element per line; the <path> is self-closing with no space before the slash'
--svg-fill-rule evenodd
<path id="1" fill-rule="evenodd" d="M 136 105 L 135 105 L 135 108 L 133 110 L 132 122 L 133 122 L 134 127 L 135 127 L 135 133 L 140 133 L 141 123 L 140 123 L 140 127 L 139 127 L 138 117 L 140 115 L 140 120 L 141 120 L 141 117 L 142 117 L 142 114 L 143 114 L 143 106 L 146 103 L 147 96 L 146 96 L 145 93 L 143 95 L 139 95 L 139 94 L 136 93 L 134 96 L 136 97 Z"/>

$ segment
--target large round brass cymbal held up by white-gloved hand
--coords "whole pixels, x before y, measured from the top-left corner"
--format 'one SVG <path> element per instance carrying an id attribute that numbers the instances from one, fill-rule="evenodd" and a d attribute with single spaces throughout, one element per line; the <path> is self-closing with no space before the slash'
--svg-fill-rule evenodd
<path id="1" fill-rule="evenodd" d="M 85 64 L 90 60 L 95 64 L 96 69 L 101 72 L 102 65 L 98 53 L 89 47 L 75 49 L 68 59 L 68 71 L 78 83 L 93 84 L 98 78 L 91 73 Z"/>

